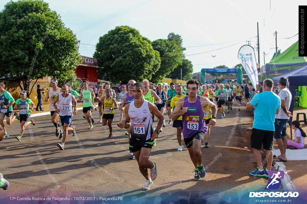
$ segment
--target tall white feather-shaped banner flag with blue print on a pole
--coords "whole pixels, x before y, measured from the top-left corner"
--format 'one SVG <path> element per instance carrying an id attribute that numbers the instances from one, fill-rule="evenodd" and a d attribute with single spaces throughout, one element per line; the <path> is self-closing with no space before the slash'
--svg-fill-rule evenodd
<path id="1" fill-rule="evenodd" d="M 238 58 L 251 83 L 256 87 L 258 84 L 258 69 L 254 48 L 249 45 L 243 45 L 239 50 Z"/>

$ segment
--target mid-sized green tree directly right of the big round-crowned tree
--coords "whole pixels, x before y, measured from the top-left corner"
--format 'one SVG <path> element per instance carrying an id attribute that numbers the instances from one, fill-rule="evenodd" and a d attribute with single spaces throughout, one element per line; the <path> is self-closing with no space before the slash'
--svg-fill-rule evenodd
<path id="1" fill-rule="evenodd" d="M 169 41 L 167 39 L 157 39 L 152 42 L 152 46 L 154 50 L 160 53 L 161 58 L 161 66 L 151 78 L 151 81 L 157 83 L 164 79 L 164 77 L 172 72 L 178 65 L 182 64 L 183 54 L 174 41 Z"/>

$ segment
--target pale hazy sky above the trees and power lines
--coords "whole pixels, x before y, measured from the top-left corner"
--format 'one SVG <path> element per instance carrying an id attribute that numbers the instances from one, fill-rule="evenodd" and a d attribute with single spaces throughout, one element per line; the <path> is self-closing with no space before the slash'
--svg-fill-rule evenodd
<path id="1" fill-rule="evenodd" d="M 186 58 L 193 64 L 193 72 L 218 65 L 233 67 L 239 64 L 237 54 L 240 47 L 247 44 L 247 40 L 250 40 L 250 45 L 255 48 L 258 62 L 257 38 L 255 38 L 257 22 L 259 22 L 260 36 L 260 65 L 264 63 L 263 52 L 266 53 L 265 62 L 269 62 L 275 52 L 275 30 L 278 50 L 284 51 L 298 40 L 296 35 L 298 5 L 306 5 L 306 1 L 302 0 L 191 2 L 46 0 L 46 2 L 49 3 L 50 9 L 62 16 L 65 26 L 76 34 L 80 43 L 93 45 L 81 44 L 79 49 L 81 55 L 92 57 L 99 36 L 114 29 L 115 26 L 128 25 L 151 41 L 166 39 L 170 32 L 181 35 L 183 46 L 187 49 Z M 6 2 L 2 0 L 1 10 L 5 4 Z M 296 36 L 285 39 L 293 35 Z M 220 49 L 226 46 L 229 47 Z M 208 53 L 197 54 L 202 52 Z"/>

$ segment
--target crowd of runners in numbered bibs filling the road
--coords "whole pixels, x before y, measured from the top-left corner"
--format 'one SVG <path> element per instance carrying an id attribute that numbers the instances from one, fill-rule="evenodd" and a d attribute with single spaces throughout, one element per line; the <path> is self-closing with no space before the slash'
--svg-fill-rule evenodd
<path id="1" fill-rule="evenodd" d="M 182 151 L 182 137 L 185 147 L 188 149 L 189 156 L 195 166 L 194 179 L 200 180 L 206 176 L 202 164 L 202 153 L 200 147 L 205 139 L 205 148 L 208 148 L 211 126 L 216 125 L 216 117 L 219 112 L 220 118 L 226 117 L 227 112 L 232 110 L 232 103 L 239 110 L 239 104 L 248 104 L 257 92 L 261 93 L 263 81 L 259 81 L 256 88 L 251 84 L 206 84 L 203 85 L 197 80 L 189 80 L 186 85 L 182 83 L 151 83 L 144 79 L 142 82 L 130 80 L 127 84 L 121 85 L 115 92 L 110 87 L 110 83 L 99 85 L 94 89 L 88 86 L 88 81 L 82 81 L 80 91 L 72 90 L 69 83 L 58 87 L 58 81 L 52 78 L 51 89 L 47 91 L 45 102 L 49 102 L 51 122 L 55 127 L 55 136 L 62 139 L 57 144 L 60 150 L 64 150 L 68 131 L 72 136 L 76 135 L 76 126 L 72 125 L 72 116 L 78 114 L 76 110 L 77 100 L 83 103 L 84 118 L 89 124 L 89 131 L 94 127 L 93 110 L 97 110 L 94 105 L 98 101 L 99 123 L 108 126 L 109 136 L 112 138 L 112 122 L 114 110 L 119 109 L 119 128 L 125 128 L 128 135 L 130 159 L 136 159 L 139 170 L 146 179 L 143 187 L 149 190 L 153 180 L 157 177 L 157 164 L 150 161 L 151 149 L 157 144 L 160 132 L 165 128 L 165 122 L 172 124 L 177 130 L 177 151 Z M 257 91 L 256 91 L 257 90 Z M 3 83 L 0 83 L 0 141 L 9 137 L 6 124 L 12 124 L 15 119 L 21 123 L 20 134 L 16 136 L 21 141 L 24 129 L 27 125 L 35 125 L 34 120 L 29 120 L 35 104 L 27 98 L 27 92 L 22 90 L 20 98 L 14 100 L 12 95 L 5 90 Z M 14 105 L 15 104 L 15 105 Z M 19 108 L 19 114 L 14 109 Z M 248 107 L 251 106 L 248 104 Z M 165 111 L 167 116 L 164 116 Z M 252 116 L 254 110 L 252 110 Z M 60 117 L 60 122 L 59 122 Z M 168 118 L 167 118 L 168 117 Z M 60 126 L 61 123 L 61 126 Z M 3 137 L 1 134 L 3 133 Z M 128 145 L 128 144 L 127 144 Z M 150 173 L 148 172 L 150 169 Z M 9 183 L 0 174 L 0 185 L 3 189 Z"/>

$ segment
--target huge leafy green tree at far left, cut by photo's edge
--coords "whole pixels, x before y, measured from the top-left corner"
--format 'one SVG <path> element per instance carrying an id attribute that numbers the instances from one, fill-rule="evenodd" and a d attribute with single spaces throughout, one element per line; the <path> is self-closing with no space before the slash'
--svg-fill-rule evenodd
<path id="1" fill-rule="evenodd" d="M 48 3 L 10 1 L 0 12 L 0 75 L 17 78 L 29 96 L 38 79 L 64 80 L 74 75 L 82 62 L 79 42 Z"/>

